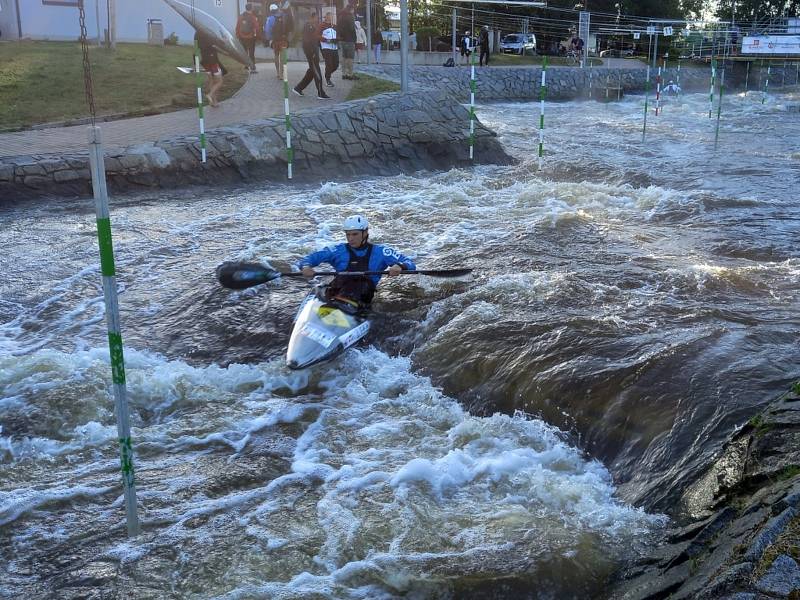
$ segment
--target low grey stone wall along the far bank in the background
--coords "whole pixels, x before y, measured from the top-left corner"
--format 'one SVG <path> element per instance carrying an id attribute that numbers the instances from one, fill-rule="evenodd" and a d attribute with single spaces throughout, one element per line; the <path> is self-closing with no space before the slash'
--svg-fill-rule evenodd
<path id="1" fill-rule="evenodd" d="M 400 67 L 397 65 L 361 65 L 359 72 L 375 77 L 400 81 Z M 476 67 L 475 99 L 478 102 L 492 100 L 530 100 L 539 98 L 542 80 L 541 67 Z M 685 91 L 708 91 L 708 68 L 682 68 L 680 78 L 677 69 L 667 69 L 663 74 L 665 82 L 678 81 Z M 655 91 L 655 73 L 651 72 L 651 90 Z M 409 70 L 409 81 L 417 90 L 444 90 L 462 102 L 469 101 L 470 69 L 468 67 L 418 67 Z M 645 89 L 647 69 L 642 67 L 609 69 L 592 67 L 548 67 L 547 100 L 574 100 L 587 98 L 589 80 L 594 90 L 606 87 L 606 81 L 615 90 L 620 85 L 623 92 L 642 92 Z M 731 71 L 726 85 L 738 81 Z M 614 94 L 616 91 L 613 92 Z"/>

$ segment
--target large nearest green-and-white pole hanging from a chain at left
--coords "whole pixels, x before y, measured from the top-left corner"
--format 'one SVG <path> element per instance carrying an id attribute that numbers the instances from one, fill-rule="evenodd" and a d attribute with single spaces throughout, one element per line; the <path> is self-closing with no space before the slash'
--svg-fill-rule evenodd
<path id="1" fill-rule="evenodd" d="M 125 360 L 122 353 L 122 334 L 119 325 L 114 244 L 111 240 L 111 219 L 108 212 L 108 189 L 106 188 L 102 139 L 100 128 L 96 126 L 89 128 L 89 167 L 92 173 L 92 189 L 97 213 L 97 242 L 100 247 L 100 270 L 103 275 L 103 296 L 108 325 L 108 350 L 111 354 L 111 381 L 117 415 L 117 437 L 119 439 L 125 513 L 128 535 L 135 536 L 139 533 L 139 518 L 136 514 L 136 478 L 133 472 L 133 445 L 131 444 L 130 413 L 125 387 Z"/>

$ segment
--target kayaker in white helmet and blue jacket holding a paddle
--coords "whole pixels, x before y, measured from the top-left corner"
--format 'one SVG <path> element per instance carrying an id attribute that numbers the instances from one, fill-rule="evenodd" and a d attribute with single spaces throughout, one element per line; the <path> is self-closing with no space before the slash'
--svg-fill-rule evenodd
<path id="1" fill-rule="evenodd" d="M 306 277 L 314 276 L 314 269 L 321 263 L 328 263 L 337 271 L 385 271 L 390 277 L 403 270 L 416 271 L 410 258 L 397 250 L 381 244 L 369 242 L 369 223 L 362 215 L 347 217 L 342 224 L 347 243 L 328 246 L 312 252 L 297 267 Z M 375 287 L 380 275 L 337 276 L 327 286 L 326 300 L 343 302 L 354 309 L 366 308 L 375 295 Z"/>

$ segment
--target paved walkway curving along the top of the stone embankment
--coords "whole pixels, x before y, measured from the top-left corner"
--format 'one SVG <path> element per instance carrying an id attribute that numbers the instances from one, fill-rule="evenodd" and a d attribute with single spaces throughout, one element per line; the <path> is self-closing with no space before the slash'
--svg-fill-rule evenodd
<path id="1" fill-rule="evenodd" d="M 231 68 L 239 67 L 237 65 Z M 300 81 L 306 68 L 306 63 L 289 63 L 290 86 Z M 324 70 L 324 65 L 322 68 Z M 352 82 L 342 81 L 341 69 L 333 74 L 332 80 L 335 87 L 325 87 L 331 100 L 317 99 L 313 82 L 305 89 L 305 96 L 302 98 L 290 92 L 289 106 L 292 112 L 344 101 L 353 85 Z M 194 85 L 194 77 L 187 76 L 186 85 Z M 98 92 L 101 93 L 102 91 Z M 206 129 L 277 115 L 283 115 L 283 84 L 276 76 L 273 63 L 259 63 L 258 73 L 251 75 L 233 97 L 220 103 L 217 108 L 206 107 Z M 86 152 L 87 127 L 87 125 L 72 125 L 0 134 L 0 157 Z M 124 148 L 180 135 L 199 134 L 197 108 L 149 117 L 108 121 L 100 123 L 100 127 L 103 133 L 103 145 L 106 148 Z"/>

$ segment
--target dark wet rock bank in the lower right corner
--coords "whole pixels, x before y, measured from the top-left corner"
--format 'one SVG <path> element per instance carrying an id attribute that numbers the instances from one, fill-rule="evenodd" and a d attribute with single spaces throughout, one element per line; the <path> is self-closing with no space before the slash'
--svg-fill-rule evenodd
<path id="1" fill-rule="evenodd" d="M 625 600 L 800 598 L 800 396 L 770 404 L 684 493 L 686 522 L 618 573 Z"/>

